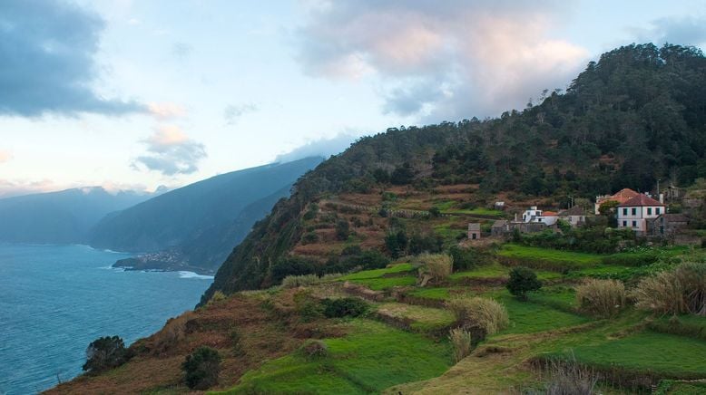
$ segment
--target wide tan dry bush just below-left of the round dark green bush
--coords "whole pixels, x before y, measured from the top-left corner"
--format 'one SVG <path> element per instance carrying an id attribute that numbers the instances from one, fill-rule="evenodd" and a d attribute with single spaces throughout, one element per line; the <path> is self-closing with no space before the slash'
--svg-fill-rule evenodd
<path id="1" fill-rule="evenodd" d="M 505 306 L 493 299 L 456 296 L 446 302 L 446 308 L 464 329 L 476 329 L 482 337 L 502 331 L 510 324 Z"/>

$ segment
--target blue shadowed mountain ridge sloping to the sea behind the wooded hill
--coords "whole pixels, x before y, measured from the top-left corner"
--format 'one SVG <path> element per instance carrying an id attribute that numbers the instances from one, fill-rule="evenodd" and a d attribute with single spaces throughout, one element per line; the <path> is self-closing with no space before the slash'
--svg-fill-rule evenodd
<path id="1" fill-rule="evenodd" d="M 250 227 L 294 182 L 323 159 L 243 169 L 174 189 L 104 217 L 93 227 L 96 248 L 148 253 L 121 265 L 140 269 L 215 270 Z M 160 254 L 149 254 L 160 253 Z"/>

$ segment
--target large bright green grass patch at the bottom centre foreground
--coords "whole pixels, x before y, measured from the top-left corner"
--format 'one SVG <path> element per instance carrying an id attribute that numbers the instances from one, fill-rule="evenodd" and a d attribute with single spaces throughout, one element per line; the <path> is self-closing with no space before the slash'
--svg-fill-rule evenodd
<path id="1" fill-rule="evenodd" d="M 307 359 L 299 352 L 249 371 L 238 393 L 369 393 L 442 374 L 451 362 L 446 342 L 369 320 L 352 320 L 347 336 L 326 339 L 328 356 Z"/>

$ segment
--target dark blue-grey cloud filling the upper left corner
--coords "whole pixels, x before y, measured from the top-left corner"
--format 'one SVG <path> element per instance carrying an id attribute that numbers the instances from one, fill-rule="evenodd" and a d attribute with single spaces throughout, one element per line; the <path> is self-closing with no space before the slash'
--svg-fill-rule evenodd
<path id="1" fill-rule="evenodd" d="M 106 99 L 91 87 L 103 28 L 96 14 L 69 2 L 0 2 L 0 115 L 143 111 L 136 101 Z"/>

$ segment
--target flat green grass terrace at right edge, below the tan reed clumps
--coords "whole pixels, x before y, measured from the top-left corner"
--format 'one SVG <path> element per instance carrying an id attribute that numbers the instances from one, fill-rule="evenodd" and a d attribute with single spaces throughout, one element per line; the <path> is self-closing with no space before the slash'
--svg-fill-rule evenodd
<path id="1" fill-rule="evenodd" d="M 598 345 L 573 349 L 579 362 L 601 368 L 615 365 L 672 378 L 706 378 L 706 342 L 644 331 Z"/>

